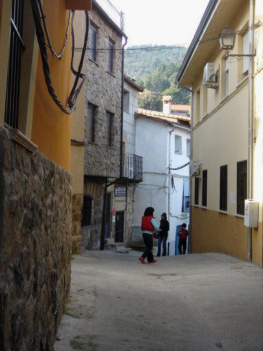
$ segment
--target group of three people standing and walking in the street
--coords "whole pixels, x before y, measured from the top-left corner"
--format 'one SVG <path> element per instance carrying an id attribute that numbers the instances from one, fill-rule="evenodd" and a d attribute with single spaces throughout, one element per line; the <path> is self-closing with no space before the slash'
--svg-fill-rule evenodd
<path id="1" fill-rule="evenodd" d="M 143 252 L 142 256 L 139 257 L 140 263 L 146 263 L 145 258 L 147 258 L 148 263 L 155 263 L 157 260 L 153 258 L 153 234 L 155 232 L 158 233 L 158 253 L 157 256 L 166 256 L 166 241 L 168 237 L 169 231 L 169 222 L 167 221 L 166 213 L 162 213 L 162 217 L 160 220 L 160 226 L 155 221 L 153 217 L 154 208 L 147 207 L 145 209 L 145 213 L 142 216 L 142 238 L 145 242 L 145 251 Z M 179 254 L 186 254 L 186 241 L 188 237 L 188 230 L 186 229 L 186 223 L 181 225 L 181 229 L 179 230 Z M 183 247 L 183 251 L 181 250 Z"/>

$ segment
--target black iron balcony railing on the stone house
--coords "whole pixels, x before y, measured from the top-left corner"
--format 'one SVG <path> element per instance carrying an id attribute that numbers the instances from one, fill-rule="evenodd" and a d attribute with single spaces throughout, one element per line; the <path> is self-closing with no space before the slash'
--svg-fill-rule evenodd
<path id="1" fill-rule="evenodd" d="M 142 157 L 124 154 L 123 158 L 123 178 L 142 180 Z"/>

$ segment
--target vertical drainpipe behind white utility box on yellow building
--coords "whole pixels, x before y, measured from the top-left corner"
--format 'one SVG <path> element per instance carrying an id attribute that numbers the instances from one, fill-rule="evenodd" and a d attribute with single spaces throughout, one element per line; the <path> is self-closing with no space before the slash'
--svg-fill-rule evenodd
<path id="1" fill-rule="evenodd" d="M 249 0 L 249 53 L 254 53 L 254 0 Z M 249 117 L 247 145 L 247 198 L 253 198 L 253 56 L 249 57 Z M 247 228 L 247 261 L 252 260 L 252 228 Z"/>

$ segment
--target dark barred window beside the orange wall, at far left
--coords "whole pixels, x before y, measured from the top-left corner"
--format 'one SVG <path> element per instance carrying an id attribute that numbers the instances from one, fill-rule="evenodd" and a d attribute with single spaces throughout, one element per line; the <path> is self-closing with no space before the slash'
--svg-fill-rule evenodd
<path id="1" fill-rule="evenodd" d="M 21 56 L 25 49 L 22 40 L 23 1 L 12 1 L 8 82 L 5 97 L 5 123 L 18 128 L 18 108 L 20 95 Z"/>

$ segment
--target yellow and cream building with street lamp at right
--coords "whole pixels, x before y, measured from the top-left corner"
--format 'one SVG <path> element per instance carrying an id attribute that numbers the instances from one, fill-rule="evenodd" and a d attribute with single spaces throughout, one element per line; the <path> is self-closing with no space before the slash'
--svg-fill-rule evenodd
<path id="1" fill-rule="evenodd" d="M 262 23 L 261 0 L 210 0 L 177 75 L 192 91 L 191 252 L 224 252 L 260 267 Z M 226 25 L 236 39 L 228 53 L 218 40 Z M 258 202 L 256 228 L 244 224 L 245 199 Z"/>

